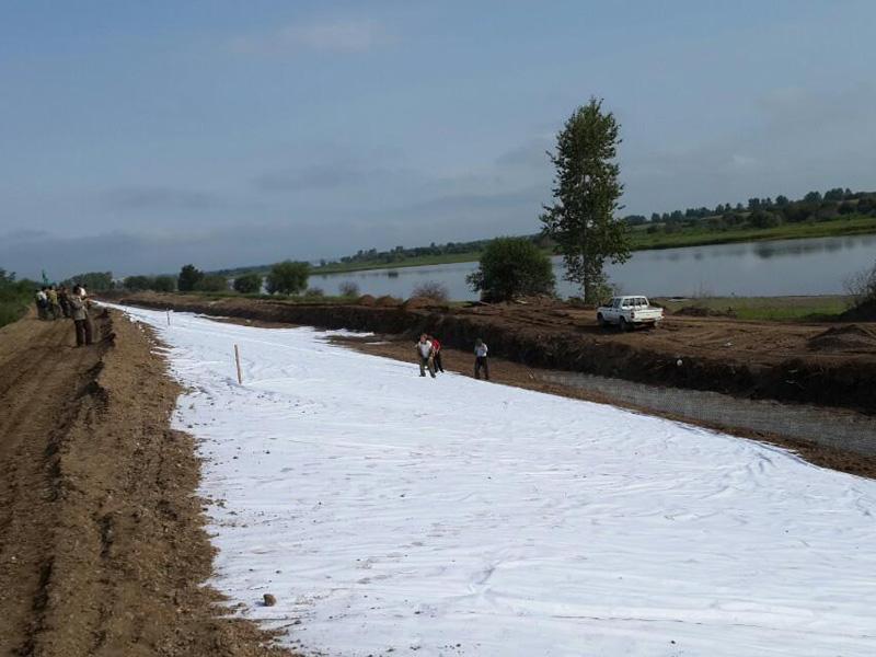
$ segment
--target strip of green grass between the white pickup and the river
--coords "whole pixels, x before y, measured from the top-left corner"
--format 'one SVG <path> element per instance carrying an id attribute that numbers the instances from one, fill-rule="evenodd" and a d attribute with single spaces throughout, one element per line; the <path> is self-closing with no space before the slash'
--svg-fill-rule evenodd
<path id="1" fill-rule="evenodd" d="M 731 310 L 737 319 L 794 322 L 829 321 L 849 309 L 851 299 L 843 295 L 818 297 L 704 297 L 700 299 L 657 299 L 654 301 L 675 312 L 694 306 L 724 312 Z"/>

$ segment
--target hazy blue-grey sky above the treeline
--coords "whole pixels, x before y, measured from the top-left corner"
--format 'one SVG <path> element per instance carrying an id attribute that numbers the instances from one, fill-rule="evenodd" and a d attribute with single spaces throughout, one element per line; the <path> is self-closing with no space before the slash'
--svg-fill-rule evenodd
<path id="1" fill-rule="evenodd" d="M 590 97 L 623 214 L 876 189 L 874 25 L 872 0 L 0 0 L 0 267 L 533 233 Z"/>

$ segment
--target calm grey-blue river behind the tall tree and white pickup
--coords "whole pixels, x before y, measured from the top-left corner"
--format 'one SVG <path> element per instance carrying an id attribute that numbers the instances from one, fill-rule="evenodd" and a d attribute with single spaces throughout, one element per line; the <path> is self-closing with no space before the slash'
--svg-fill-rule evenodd
<path id="1" fill-rule="evenodd" d="M 577 295 L 563 279 L 562 258 L 552 260 L 560 296 Z M 636 251 L 607 272 L 620 291 L 650 297 L 833 295 L 844 291 L 850 275 L 874 262 L 876 235 L 853 235 Z M 362 295 L 406 299 L 417 285 L 437 281 L 451 299 L 476 299 L 465 284 L 476 267 L 477 263 L 456 263 L 321 274 L 310 277 L 310 286 L 337 295 L 343 283 L 353 281 Z"/>

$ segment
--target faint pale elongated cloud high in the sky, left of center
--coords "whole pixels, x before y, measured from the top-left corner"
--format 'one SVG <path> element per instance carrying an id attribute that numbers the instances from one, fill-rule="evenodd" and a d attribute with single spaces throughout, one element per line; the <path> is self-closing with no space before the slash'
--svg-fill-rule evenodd
<path id="1" fill-rule="evenodd" d="M 232 49 L 246 54 L 283 54 L 297 50 L 364 53 L 390 43 L 387 30 L 372 20 L 343 20 L 286 25 L 263 34 L 239 36 Z"/>

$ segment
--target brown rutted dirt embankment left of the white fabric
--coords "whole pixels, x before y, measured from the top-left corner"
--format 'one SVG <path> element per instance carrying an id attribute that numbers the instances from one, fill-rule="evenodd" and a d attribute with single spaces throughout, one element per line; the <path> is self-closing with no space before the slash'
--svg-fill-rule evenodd
<path id="1" fill-rule="evenodd" d="M 95 320 L 0 331 L 0 655 L 279 656 L 203 587 L 212 549 L 178 389 L 150 336 Z"/>

